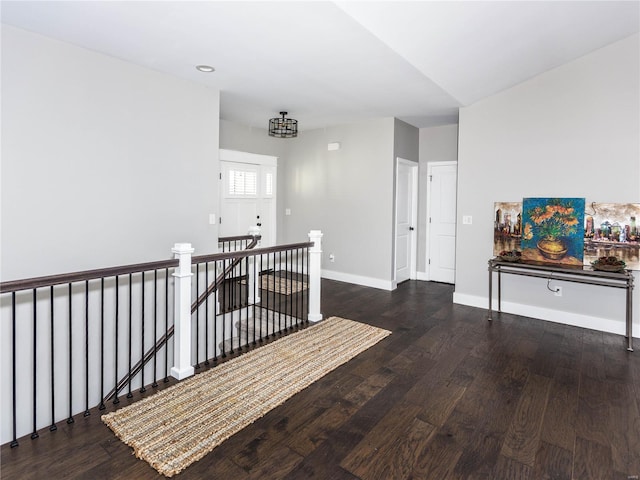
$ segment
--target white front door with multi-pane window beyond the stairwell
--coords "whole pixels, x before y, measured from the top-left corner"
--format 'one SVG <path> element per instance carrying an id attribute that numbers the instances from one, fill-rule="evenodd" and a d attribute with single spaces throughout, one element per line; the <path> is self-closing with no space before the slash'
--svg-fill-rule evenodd
<path id="1" fill-rule="evenodd" d="M 275 157 L 248 153 L 242 156 L 243 153 L 220 151 L 218 235 L 246 235 L 249 227 L 259 226 L 261 246 L 272 246 L 276 239 L 276 166 L 270 159 Z M 240 161 L 228 161 L 225 158 Z M 251 161 L 264 163 L 248 163 Z"/>

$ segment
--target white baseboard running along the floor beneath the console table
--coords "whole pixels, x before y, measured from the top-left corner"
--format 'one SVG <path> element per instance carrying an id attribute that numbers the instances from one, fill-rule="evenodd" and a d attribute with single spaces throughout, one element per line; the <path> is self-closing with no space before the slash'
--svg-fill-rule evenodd
<path id="1" fill-rule="evenodd" d="M 484 308 L 485 310 L 489 308 L 489 300 L 487 297 L 478 297 L 475 295 L 466 295 L 456 292 L 453 293 L 453 303 Z M 497 314 L 495 312 L 498 308 L 497 300 L 493 301 L 492 308 L 494 311 L 494 318 L 496 318 Z M 574 327 L 589 328 L 591 330 L 615 333 L 618 335 L 626 334 L 626 323 L 622 318 L 616 321 L 610 318 L 593 317 L 581 313 L 563 312 L 561 310 L 552 310 L 550 308 L 537 307 L 535 305 L 505 301 L 502 301 L 501 310 L 504 313 L 537 318 L 539 320 L 572 325 Z"/>

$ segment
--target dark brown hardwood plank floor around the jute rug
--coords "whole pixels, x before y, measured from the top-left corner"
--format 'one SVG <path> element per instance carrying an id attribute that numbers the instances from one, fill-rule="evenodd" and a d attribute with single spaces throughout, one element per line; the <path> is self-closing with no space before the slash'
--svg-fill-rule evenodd
<path id="1" fill-rule="evenodd" d="M 323 280 L 323 313 L 393 334 L 231 437 L 178 478 L 637 479 L 640 351 L 624 338 Z M 162 478 L 100 422 L 1 450 L 3 479 Z"/>

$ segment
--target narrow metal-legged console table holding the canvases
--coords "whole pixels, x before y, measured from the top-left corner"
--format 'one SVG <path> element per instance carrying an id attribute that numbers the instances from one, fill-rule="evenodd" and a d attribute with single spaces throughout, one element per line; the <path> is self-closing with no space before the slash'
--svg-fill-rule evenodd
<path id="1" fill-rule="evenodd" d="M 627 322 L 627 350 L 633 352 L 632 336 L 632 293 L 633 274 L 631 270 L 621 272 L 604 272 L 593 270 L 588 266 L 566 266 L 551 265 L 541 262 L 507 262 L 499 258 L 489 260 L 489 315 L 488 320 L 492 320 L 492 300 L 493 300 L 493 273 L 498 274 L 498 313 L 500 313 L 501 303 L 501 283 L 502 274 L 522 275 L 525 277 L 539 277 L 551 280 L 562 280 L 565 282 L 586 283 L 589 285 L 600 285 L 603 287 L 624 288 L 627 290 L 626 300 L 626 322 Z"/>

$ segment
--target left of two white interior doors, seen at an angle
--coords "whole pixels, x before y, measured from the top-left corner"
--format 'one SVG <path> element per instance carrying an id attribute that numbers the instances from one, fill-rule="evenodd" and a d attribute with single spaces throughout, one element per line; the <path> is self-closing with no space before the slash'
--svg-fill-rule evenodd
<path id="1" fill-rule="evenodd" d="M 418 165 L 398 158 L 396 164 L 396 284 L 416 278 Z"/>

